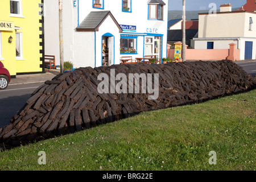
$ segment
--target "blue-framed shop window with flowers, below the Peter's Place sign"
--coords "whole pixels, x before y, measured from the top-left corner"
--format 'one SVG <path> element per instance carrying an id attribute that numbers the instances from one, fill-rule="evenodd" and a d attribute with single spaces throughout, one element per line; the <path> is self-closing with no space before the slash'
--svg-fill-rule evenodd
<path id="1" fill-rule="evenodd" d="M 120 39 L 120 53 L 137 53 L 135 49 L 136 39 Z"/>

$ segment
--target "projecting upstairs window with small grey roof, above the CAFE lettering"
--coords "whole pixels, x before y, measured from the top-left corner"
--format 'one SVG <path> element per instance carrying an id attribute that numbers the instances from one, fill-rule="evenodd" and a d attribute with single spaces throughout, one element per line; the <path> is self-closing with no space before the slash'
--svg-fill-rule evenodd
<path id="1" fill-rule="evenodd" d="M 163 6 L 166 5 L 162 0 L 148 1 L 148 19 L 163 20 Z"/>

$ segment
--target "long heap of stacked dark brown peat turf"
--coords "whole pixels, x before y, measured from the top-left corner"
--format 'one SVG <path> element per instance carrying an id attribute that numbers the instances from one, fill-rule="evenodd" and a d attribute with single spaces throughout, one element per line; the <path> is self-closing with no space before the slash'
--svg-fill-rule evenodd
<path id="1" fill-rule="evenodd" d="M 109 76 L 109 90 L 113 89 L 111 70 L 114 76 L 124 73 L 127 85 L 129 73 L 146 76 L 151 73 L 152 88 L 158 78 L 159 89 L 154 88 L 158 98 L 148 99 L 153 93 L 142 92 L 142 87 L 139 93 L 99 93 L 98 85 L 103 79 L 98 80 L 98 75 L 101 73 Z M 141 81 L 140 86 L 144 81 L 147 80 Z M 115 79 L 114 88 L 118 82 L 120 79 Z M 134 90 L 135 84 L 135 81 L 131 84 Z M 229 60 L 79 68 L 57 75 L 36 89 L 10 124 L 0 129 L 0 146 L 19 146 L 89 129 L 142 111 L 205 101 L 245 92 L 255 86 L 256 79 Z"/>

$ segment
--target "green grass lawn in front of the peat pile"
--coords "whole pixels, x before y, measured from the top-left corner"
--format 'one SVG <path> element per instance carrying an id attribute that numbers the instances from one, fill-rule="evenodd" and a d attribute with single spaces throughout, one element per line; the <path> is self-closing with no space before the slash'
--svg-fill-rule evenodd
<path id="1" fill-rule="evenodd" d="M 0 152 L 0 170 L 255 170 L 256 89 Z M 39 165 L 39 151 L 46 164 Z M 209 164 L 215 151 L 217 164 Z"/>

